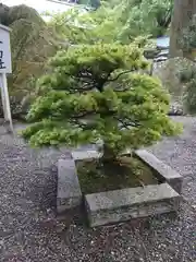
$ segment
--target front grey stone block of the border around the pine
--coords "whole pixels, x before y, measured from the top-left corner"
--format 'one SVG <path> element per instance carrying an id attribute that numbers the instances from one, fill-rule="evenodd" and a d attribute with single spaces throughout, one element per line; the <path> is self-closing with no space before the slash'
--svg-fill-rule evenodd
<path id="1" fill-rule="evenodd" d="M 90 227 L 176 212 L 182 196 L 167 182 L 85 195 Z"/>

